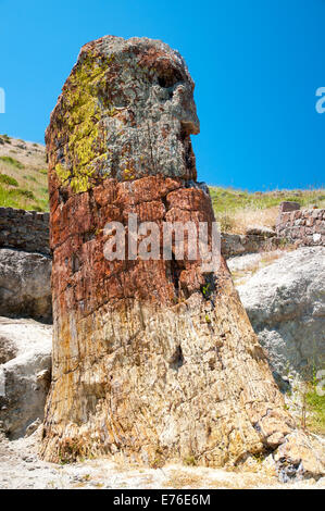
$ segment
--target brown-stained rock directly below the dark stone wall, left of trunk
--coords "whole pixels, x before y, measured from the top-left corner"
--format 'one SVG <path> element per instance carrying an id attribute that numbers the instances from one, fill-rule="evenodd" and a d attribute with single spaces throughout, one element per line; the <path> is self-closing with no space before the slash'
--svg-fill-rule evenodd
<path id="1" fill-rule="evenodd" d="M 0 249 L 0 314 L 51 322 L 51 259 Z"/>

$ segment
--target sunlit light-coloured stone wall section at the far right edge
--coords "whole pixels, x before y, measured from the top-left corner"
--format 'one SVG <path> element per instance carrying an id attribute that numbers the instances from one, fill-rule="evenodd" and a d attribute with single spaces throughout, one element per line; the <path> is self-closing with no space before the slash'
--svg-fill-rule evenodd
<path id="1" fill-rule="evenodd" d="M 280 212 L 277 236 L 299 246 L 325 246 L 325 210 L 296 210 Z"/>

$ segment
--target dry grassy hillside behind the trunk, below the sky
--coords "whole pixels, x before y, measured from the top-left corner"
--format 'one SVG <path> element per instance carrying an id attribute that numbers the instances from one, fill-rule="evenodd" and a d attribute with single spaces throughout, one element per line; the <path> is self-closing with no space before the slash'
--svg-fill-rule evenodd
<path id="1" fill-rule="evenodd" d="M 222 230 L 239 234 L 249 225 L 273 227 L 277 207 L 284 200 L 325 207 L 325 189 L 249 192 L 210 186 L 210 192 Z M 0 205 L 48 211 L 43 146 L 0 135 Z"/>

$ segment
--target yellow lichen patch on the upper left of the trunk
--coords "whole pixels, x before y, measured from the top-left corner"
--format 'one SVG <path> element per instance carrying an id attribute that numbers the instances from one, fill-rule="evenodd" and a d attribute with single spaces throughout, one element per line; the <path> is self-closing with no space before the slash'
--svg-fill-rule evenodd
<path id="1" fill-rule="evenodd" d="M 100 119 L 103 109 L 112 110 L 112 107 L 108 101 L 100 103 L 98 91 L 104 89 L 105 73 L 112 60 L 113 57 L 88 53 L 77 63 L 65 86 L 61 121 L 63 129 L 68 133 L 65 161 L 70 163 L 71 171 L 65 171 L 60 164 L 55 171 L 60 180 L 68 179 L 77 194 L 91 186 L 89 178 L 98 167 L 98 157 L 105 160 L 105 137 Z"/>

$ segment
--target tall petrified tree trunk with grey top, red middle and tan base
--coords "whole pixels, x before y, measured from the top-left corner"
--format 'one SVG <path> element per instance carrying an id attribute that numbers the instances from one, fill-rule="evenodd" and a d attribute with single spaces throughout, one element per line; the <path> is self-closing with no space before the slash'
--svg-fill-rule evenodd
<path id="1" fill-rule="evenodd" d="M 224 261 L 109 262 L 104 226 L 214 220 L 196 182 L 193 83 L 150 39 L 83 47 L 47 130 L 53 381 L 43 457 L 212 466 L 293 429 Z"/>

